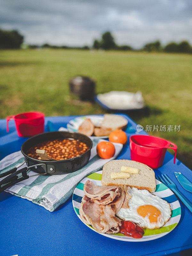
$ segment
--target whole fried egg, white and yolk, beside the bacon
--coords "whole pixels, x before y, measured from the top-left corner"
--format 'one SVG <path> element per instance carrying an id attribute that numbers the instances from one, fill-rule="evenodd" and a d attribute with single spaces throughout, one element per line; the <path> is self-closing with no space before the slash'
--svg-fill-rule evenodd
<path id="1" fill-rule="evenodd" d="M 130 188 L 129 208 L 121 208 L 116 215 L 123 220 L 130 220 L 142 228 L 161 228 L 171 217 L 170 204 L 148 190 Z"/>

